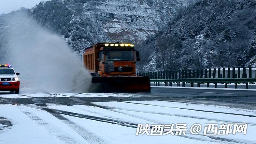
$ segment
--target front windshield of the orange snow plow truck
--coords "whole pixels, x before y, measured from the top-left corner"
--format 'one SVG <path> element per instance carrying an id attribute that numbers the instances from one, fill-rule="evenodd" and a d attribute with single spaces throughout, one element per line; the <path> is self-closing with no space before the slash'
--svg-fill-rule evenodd
<path id="1" fill-rule="evenodd" d="M 133 61 L 133 51 L 107 51 L 105 53 L 107 61 Z"/>

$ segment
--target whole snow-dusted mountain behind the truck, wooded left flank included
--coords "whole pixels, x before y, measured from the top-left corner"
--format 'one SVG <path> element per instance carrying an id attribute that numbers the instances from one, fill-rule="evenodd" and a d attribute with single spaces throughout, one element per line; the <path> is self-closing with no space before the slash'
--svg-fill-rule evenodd
<path id="1" fill-rule="evenodd" d="M 98 42 L 139 43 L 166 24 L 192 0 L 52 0 L 30 14 L 58 31 L 75 50 Z"/>

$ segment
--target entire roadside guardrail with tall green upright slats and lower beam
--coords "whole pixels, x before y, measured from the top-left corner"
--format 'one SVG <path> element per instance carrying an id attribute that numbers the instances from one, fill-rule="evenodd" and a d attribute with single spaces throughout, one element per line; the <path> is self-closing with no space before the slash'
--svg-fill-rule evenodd
<path id="1" fill-rule="evenodd" d="M 248 89 L 248 83 L 256 82 L 256 68 L 255 67 L 228 67 L 228 68 L 206 68 L 206 69 L 183 69 L 172 71 L 151 71 L 145 73 L 137 73 L 137 76 L 149 76 L 151 82 L 160 86 L 161 82 L 164 82 L 167 86 L 172 86 L 173 82 L 177 82 L 177 86 L 185 86 L 185 82 L 197 83 L 197 87 L 200 87 L 200 83 L 207 83 L 209 87 L 210 83 L 225 83 L 227 88 L 228 83 L 235 83 L 237 89 L 238 83 L 246 83 L 246 89 Z"/>

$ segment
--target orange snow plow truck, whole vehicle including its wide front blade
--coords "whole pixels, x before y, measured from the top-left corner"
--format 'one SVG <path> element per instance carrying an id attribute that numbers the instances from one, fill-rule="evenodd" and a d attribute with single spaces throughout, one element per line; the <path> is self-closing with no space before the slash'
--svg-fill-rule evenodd
<path id="1" fill-rule="evenodd" d="M 103 92 L 150 92 L 150 78 L 136 76 L 140 54 L 133 44 L 98 43 L 85 48 L 84 66 Z"/>

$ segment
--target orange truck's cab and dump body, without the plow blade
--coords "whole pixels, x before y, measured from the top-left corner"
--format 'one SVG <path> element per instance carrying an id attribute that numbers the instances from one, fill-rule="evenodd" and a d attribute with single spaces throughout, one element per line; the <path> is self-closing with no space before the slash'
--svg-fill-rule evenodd
<path id="1" fill-rule="evenodd" d="M 133 44 L 99 43 L 85 49 L 84 64 L 93 76 L 136 76 L 139 57 Z"/>

